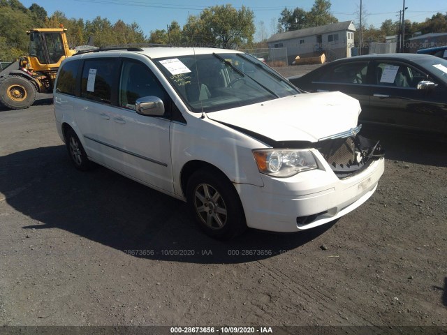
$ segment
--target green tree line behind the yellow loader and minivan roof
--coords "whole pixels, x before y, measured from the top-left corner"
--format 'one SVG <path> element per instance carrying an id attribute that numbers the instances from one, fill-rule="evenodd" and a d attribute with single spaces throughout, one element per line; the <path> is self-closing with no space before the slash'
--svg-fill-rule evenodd
<path id="1" fill-rule="evenodd" d="M 205 8 L 199 15 L 188 17 L 184 27 L 173 21 L 166 29 L 156 29 L 146 36 L 140 26 L 122 20 L 115 23 L 103 17 L 94 20 L 68 18 L 60 11 L 48 16 L 37 3 L 29 8 L 19 0 L 0 0 L 0 59 L 10 61 L 27 54 L 31 28 L 67 29 L 68 45 L 171 44 L 214 47 L 244 47 L 253 43 L 254 13 L 248 8 L 236 10 L 231 5 Z"/>

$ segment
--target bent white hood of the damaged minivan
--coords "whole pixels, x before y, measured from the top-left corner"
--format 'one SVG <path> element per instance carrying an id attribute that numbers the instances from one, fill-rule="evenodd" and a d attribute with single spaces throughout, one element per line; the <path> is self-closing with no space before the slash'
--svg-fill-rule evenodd
<path id="1" fill-rule="evenodd" d="M 269 137 L 275 141 L 309 141 L 355 128 L 360 104 L 340 92 L 297 94 L 207 117 Z"/>

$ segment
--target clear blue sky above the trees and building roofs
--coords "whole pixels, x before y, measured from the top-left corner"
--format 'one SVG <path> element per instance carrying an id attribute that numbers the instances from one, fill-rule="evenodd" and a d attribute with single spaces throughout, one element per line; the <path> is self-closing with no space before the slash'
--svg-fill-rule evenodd
<path id="1" fill-rule="evenodd" d="M 27 8 L 32 3 L 37 3 L 47 10 L 48 15 L 60 10 L 68 18 L 93 20 L 101 16 L 110 20 L 112 24 L 120 19 L 127 24 L 136 22 L 147 36 L 155 29 L 166 29 L 166 25 L 174 20 L 182 27 L 188 15 L 198 15 L 204 8 L 230 3 L 236 9 L 246 6 L 253 10 L 254 23 L 258 30 L 255 40 L 261 40 L 261 29 L 259 29 L 261 21 L 263 30 L 268 34 L 267 37 L 270 37 L 274 34 L 281 10 L 285 7 L 310 10 L 314 4 L 314 0 L 21 0 L 21 2 Z M 332 15 L 337 17 L 339 22 L 358 21 L 360 0 L 331 0 L 330 2 Z M 426 17 L 432 17 L 437 12 L 447 13 L 446 0 L 362 0 L 362 11 L 366 13 L 362 20 L 366 18 L 367 26 L 373 25 L 376 28 L 380 28 L 381 23 L 388 19 L 393 22 L 398 21 L 399 10 L 402 10 L 404 3 L 405 7 L 408 7 L 405 10 L 405 19 L 412 22 L 423 22 Z"/>

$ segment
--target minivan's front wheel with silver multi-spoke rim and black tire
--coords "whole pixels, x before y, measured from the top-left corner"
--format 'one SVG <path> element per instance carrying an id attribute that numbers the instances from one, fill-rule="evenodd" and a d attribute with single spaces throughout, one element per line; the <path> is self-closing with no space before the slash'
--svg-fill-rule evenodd
<path id="1" fill-rule="evenodd" d="M 221 172 L 194 172 L 186 187 L 186 198 L 189 211 L 210 237 L 230 239 L 247 229 L 239 195 Z"/>

